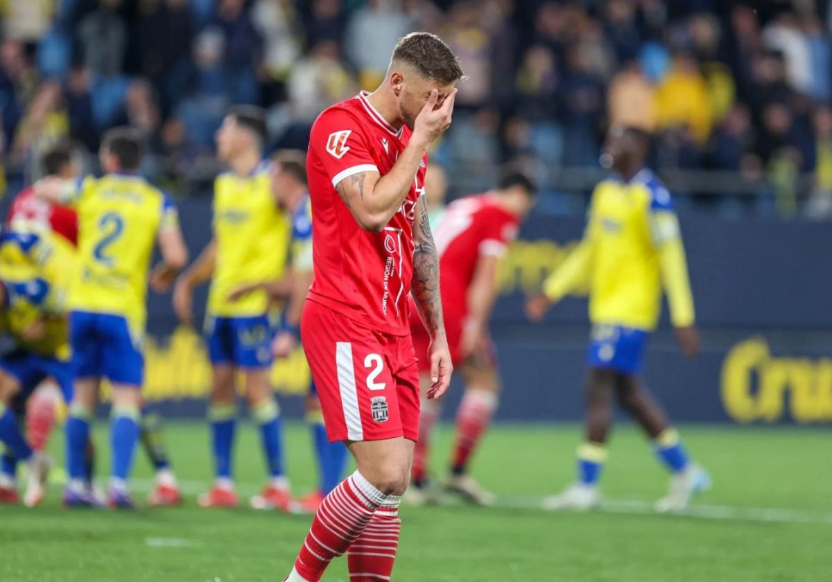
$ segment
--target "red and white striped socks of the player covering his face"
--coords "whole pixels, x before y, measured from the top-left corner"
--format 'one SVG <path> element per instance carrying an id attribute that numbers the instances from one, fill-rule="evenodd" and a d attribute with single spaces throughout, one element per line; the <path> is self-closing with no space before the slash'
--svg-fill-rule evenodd
<path id="1" fill-rule="evenodd" d="M 286 580 L 318 582 L 329 562 L 344 555 L 354 543 L 359 546 L 355 555 L 351 552 L 349 556 L 349 570 L 356 572 L 355 577 L 350 574 L 351 582 L 389 580 L 399 544 L 398 509 L 399 496 L 384 495 L 355 471 L 324 497 Z M 364 539 L 362 534 L 371 524 Z M 362 571 L 353 570 L 354 560 Z"/>

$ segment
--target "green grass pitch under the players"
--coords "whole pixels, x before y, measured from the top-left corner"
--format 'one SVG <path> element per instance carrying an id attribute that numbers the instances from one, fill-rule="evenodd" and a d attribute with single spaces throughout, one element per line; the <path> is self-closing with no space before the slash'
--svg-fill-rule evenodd
<path id="1" fill-rule="evenodd" d="M 104 468 L 106 434 L 99 429 Z M 607 509 L 554 514 L 535 505 L 572 480 L 579 427 L 496 427 L 474 473 L 502 496 L 500 505 L 405 507 L 393 580 L 830 580 L 828 431 L 681 427 L 681 434 L 714 478 L 713 490 L 697 499 L 691 515 L 651 514 L 648 502 L 664 493 L 666 474 L 631 427 L 619 429 L 612 441 L 602 480 Z M 437 439 L 437 471 L 450 438 L 446 427 Z M 2 506 L 0 580 L 282 580 L 310 516 L 197 508 L 195 494 L 210 481 L 206 429 L 171 424 L 167 440 L 186 506 L 68 512 L 57 488 L 36 510 Z M 286 445 L 293 489 L 304 493 L 314 482 L 305 427 L 290 424 Z M 61 447 L 60 438 L 53 439 L 56 457 Z M 263 481 L 252 427 L 238 430 L 236 453 L 240 492 L 250 495 Z M 140 452 L 141 499 L 150 476 Z M 335 560 L 324 580 L 349 580 L 344 560 Z"/>

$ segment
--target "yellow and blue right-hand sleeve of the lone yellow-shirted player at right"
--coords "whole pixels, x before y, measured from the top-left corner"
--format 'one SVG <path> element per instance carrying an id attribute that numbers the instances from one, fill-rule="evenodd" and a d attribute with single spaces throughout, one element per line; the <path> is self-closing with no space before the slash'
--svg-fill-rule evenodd
<path id="1" fill-rule="evenodd" d="M 659 260 L 661 282 L 670 306 L 671 322 L 676 328 L 687 327 L 694 323 L 695 314 L 685 245 L 681 240 L 679 219 L 672 209 L 670 194 L 663 186 L 653 191 L 648 220 Z"/>

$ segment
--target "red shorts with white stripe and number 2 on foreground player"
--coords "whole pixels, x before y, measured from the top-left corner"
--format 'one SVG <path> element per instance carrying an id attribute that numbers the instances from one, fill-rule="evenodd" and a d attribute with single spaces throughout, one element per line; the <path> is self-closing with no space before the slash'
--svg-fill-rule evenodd
<path id="1" fill-rule="evenodd" d="M 418 440 L 419 388 L 409 336 L 375 332 L 307 299 L 301 340 L 329 441 Z"/>

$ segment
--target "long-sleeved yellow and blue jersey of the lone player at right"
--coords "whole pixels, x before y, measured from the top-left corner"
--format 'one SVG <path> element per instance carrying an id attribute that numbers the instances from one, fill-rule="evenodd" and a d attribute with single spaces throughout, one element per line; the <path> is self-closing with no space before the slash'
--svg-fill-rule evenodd
<path id="1" fill-rule="evenodd" d="M 582 242 L 544 284 L 552 300 L 589 289 L 592 323 L 651 331 L 667 293 L 676 327 L 694 322 L 685 250 L 671 195 L 650 170 L 603 180 Z"/>

